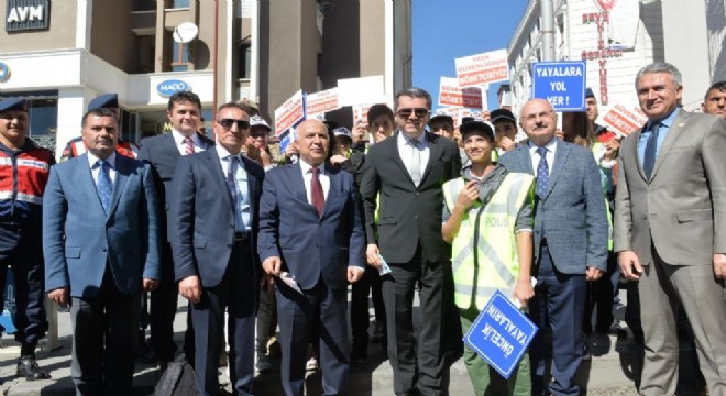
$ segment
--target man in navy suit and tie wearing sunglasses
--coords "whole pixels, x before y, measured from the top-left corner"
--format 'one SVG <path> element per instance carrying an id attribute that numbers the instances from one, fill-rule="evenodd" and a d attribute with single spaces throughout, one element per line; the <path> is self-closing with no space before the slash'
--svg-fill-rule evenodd
<path id="1" fill-rule="evenodd" d="M 262 275 L 254 246 L 265 173 L 240 154 L 250 131 L 250 116 L 240 105 L 220 106 L 213 129 L 215 148 L 177 162 L 168 196 L 168 237 L 179 293 L 191 302 L 199 394 L 218 392 L 227 310 L 232 387 L 237 395 L 252 395 Z"/>

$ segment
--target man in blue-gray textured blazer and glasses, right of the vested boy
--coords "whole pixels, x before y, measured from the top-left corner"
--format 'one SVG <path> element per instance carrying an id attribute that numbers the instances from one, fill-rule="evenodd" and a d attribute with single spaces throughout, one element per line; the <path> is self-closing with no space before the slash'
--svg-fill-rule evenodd
<path id="1" fill-rule="evenodd" d="M 509 172 L 537 176 L 535 198 L 535 297 L 529 317 L 552 330 L 552 395 L 579 395 L 574 375 L 583 355 L 582 316 L 587 280 L 607 268 L 607 215 L 600 170 L 592 153 L 554 136 L 557 113 L 544 99 L 531 99 L 519 123 L 529 142 L 499 157 Z M 532 395 L 543 383 L 547 344 L 539 331 L 530 345 Z"/>

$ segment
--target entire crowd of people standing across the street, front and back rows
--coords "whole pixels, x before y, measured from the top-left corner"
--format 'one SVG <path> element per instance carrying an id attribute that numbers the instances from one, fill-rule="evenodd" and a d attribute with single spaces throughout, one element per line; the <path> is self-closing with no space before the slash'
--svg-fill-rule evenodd
<path id="1" fill-rule="evenodd" d="M 223 355 L 233 393 L 252 395 L 275 349 L 286 395 L 305 393 L 309 370 L 326 395 L 344 394 L 371 343 L 396 395 L 449 394 L 459 359 L 476 395 L 576 395 L 586 334 L 626 334 L 613 317 L 624 277 L 639 296 L 640 394 L 676 393 L 683 311 L 704 392 L 726 395 L 726 81 L 703 113 L 681 108 L 670 64 L 645 66 L 635 88 L 648 122 L 625 139 L 595 122 L 591 90 L 587 111 L 558 127 L 543 99 L 519 121 L 496 109 L 455 124 L 408 88 L 351 129 L 301 122 L 279 158 L 253 102 L 216 109 L 212 140 L 199 97 L 176 92 L 172 131 L 138 147 L 119 140 L 118 98 L 103 95 L 58 164 L 28 138 L 25 100 L 0 100 L 16 373 L 51 377 L 35 358 L 47 296 L 69 310 L 78 395 L 132 394 L 147 326 L 150 359 L 163 372 L 183 352 L 201 395 L 220 392 Z M 462 343 L 495 290 L 540 329 L 508 378 Z"/>

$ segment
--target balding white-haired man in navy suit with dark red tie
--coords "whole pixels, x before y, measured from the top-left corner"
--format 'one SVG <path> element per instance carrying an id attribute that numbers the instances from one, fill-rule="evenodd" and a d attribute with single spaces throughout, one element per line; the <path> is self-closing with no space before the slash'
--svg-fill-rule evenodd
<path id="1" fill-rule="evenodd" d="M 324 162 L 326 125 L 304 121 L 297 135 L 300 161 L 265 178 L 257 251 L 267 275 L 276 277 L 285 394 L 304 394 L 308 343 L 319 334 L 322 391 L 340 395 L 349 369 L 348 282 L 358 282 L 365 265 L 363 224 L 353 176 Z M 279 278 L 283 272 L 299 290 Z"/>

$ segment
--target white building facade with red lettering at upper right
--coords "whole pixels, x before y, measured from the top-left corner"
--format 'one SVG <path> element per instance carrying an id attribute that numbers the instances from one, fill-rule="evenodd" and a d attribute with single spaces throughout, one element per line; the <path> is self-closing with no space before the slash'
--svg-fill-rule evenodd
<path id="1" fill-rule="evenodd" d="M 541 1 L 529 2 L 507 48 L 516 111 L 531 96 L 530 64 L 543 61 Z M 635 76 L 656 61 L 672 63 L 682 72 L 688 110 L 698 109 L 712 81 L 726 79 L 723 1 L 552 2 L 552 61 L 586 61 L 587 86 L 595 92 L 601 118 L 615 105 L 637 107 Z"/>

